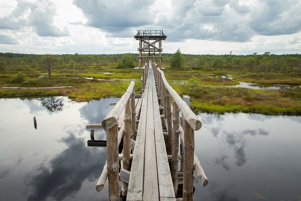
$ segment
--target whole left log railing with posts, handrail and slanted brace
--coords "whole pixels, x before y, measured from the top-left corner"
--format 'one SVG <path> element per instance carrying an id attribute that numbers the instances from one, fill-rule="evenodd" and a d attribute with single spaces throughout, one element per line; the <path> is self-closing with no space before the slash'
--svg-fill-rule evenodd
<path id="1" fill-rule="evenodd" d="M 118 119 L 124 109 L 124 123 L 118 131 Z M 106 131 L 107 162 L 96 185 L 96 190 L 100 191 L 109 177 L 109 199 L 119 200 L 119 153 L 118 146 L 123 136 L 123 169 L 130 171 L 130 139 L 135 139 L 135 90 L 134 82 L 131 81 L 125 93 L 121 96 L 114 108 L 102 121 L 102 128 Z M 127 183 L 122 184 L 122 193 L 127 192 Z"/>

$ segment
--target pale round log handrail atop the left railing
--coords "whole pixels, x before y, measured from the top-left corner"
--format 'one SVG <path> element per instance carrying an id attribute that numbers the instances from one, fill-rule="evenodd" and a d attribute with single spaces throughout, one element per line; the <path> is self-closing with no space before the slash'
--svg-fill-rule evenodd
<path id="1" fill-rule="evenodd" d="M 102 121 L 101 125 L 103 129 L 109 129 L 112 128 L 116 123 L 117 120 L 123 111 L 127 100 L 129 99 L 132 91 L 134 90 L 135 82 L 131 81 L 130 85 L 126 89 L 125 93 L 121 96 L 118 103 L 114 106 L 114 108 L 107 114 L 105 119 Z"/>

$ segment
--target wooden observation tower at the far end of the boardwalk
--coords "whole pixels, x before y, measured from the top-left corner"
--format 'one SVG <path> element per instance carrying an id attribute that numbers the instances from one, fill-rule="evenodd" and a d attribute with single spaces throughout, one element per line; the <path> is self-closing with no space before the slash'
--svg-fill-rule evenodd
<path id="1" fill-rule="evenodd" d="M 138 67 L 141 68 L 149 58 L 153 58 L 154 62 L 156 61 L 155 58 L 159 58 L 159 67 L 162 68 L 162 40 L 167 38 L 163 30 L 138 30 L 134 38 L 139 40 Z M 159 55 L 156 55 L 156 53 L 159 53 Z M 144 61 L 143 65 L 142 61 Z"/>

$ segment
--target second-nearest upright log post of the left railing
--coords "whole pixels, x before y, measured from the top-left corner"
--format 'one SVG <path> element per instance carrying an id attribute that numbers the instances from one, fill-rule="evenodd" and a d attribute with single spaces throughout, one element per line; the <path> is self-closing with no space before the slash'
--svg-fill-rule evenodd
<path id="1" fill-rule="evenodd" d="M 132 128 L 132 113 L 131 113 L 131 99 L 127 100 L 124 109 L 124 133 L 123 133 L 123 158 L 122 164 L 123 169 L 130 171 L 129 157 L 130 157 L 130 137 Z M 122 183 L 121 196 L 126 196 L 128 184 L 126 182 Z"/>

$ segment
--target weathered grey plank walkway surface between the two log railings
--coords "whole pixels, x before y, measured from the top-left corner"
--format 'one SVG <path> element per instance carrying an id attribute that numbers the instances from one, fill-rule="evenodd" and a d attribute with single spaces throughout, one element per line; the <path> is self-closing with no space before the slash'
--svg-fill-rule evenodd
<path id="1" fill-rule="evenodd" d="M 176 200 L 152 68 L 142 97 L 127 200 Z"/>

